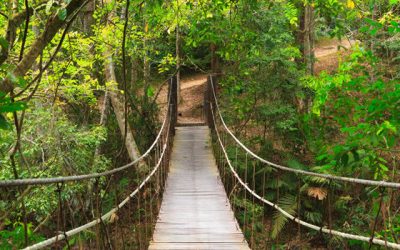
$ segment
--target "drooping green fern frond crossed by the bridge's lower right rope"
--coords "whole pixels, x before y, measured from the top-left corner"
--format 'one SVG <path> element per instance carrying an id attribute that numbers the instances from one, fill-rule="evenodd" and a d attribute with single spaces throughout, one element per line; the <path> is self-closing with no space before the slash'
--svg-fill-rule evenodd
<path id="1" fill-rule="evenodd" d="M 278 206 L 281 207 L 283 210 L 288 212 L 291 215 L 296 215 L 296 208 L 297 208 L 297 199 L 296 196 L 293 195 L 286 195 L 282 197 L 278 201 Z M 282 213 L 279 211 L 275 211 L 273 215 L 273 224 L 272 224 L 272 231 L 271 231 L 271 237 L 275 239 L 278 234 L 282 231 L 282 229 L 285 227 L 287 222 L 286 216 L 284 216 Z"/>

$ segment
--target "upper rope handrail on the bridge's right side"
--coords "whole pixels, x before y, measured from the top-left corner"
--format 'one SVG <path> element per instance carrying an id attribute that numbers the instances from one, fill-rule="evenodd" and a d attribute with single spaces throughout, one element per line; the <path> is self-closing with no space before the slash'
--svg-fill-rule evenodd
<path id="1" fill-rule="evenodd" d="M 350 182 L 350 183 L 358 183 L 358 184 L 363 184 L 363 185 L 369 185 L 369 186 L 378 186 L 378 187 L 390 187 L 390 188 L 396 188 L 400 189 L 400 183 L 398 182 L 387 182 L 387 181 L 374 181 L 374 180 L 368 180 L 368 179 L 360 179 L 360 178 L 352 178 L 352 177 L 345 177 L 345 176 L 337 176 L 337 175 L 331 175 L 331 174 L 322 174 L 322 173 L 316 173 L 316 172 L 310 172 L 306 170 L 301 170 L 301 169 L 294 169 L 286 166 L 282 166 L 273 162 L 270 162 L 264 158 L 261 158 L 258 156 L 256 153 L 251 151 L 248 147 L 246 147 L 234 134 L 233 132 L 228 128 L 228 126 L 225 123 L 224 118 L 222 117 L 221 110 L 219 108 L 217 96 L 215 93 L 215 88 L 214 88 L 214 83 L 213 83 L 213 78 L 210 77 L 210 83 L 211 83 L 211 89 L 213 92 L 214 96 L 214 101 L 215 101 L 215 107 L 218 111 L 218 116 L 220 117 L 221 123 L 224 127 L 224 129 L 228 132 L 228 134 L 236 141 L 236 143 L 243 148 L 248 154 L 250 154 L 252 157 L 255 159 L 266 163 L 270 165 L 271 167 L 274 167 L 276 169 L 280 169 L 283 171 L 287 172 L 292 172 L 296 174 L 303 174 L 303 175 L 309 175 L 309 176 L 315 176 L 315 177 L 320 177 L 320 178 L 325 178 L 325 179 L 330 179 L 330 180 L 337 180 L 337 181 L 344 181 L 344 182 Z"/>

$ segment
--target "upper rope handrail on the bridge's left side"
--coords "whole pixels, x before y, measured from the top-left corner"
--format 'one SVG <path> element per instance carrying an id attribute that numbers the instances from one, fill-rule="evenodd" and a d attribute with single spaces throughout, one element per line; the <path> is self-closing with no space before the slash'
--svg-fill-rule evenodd
<path id="1" fill-rule="evenodd" d="M 172 80 L 172 78 L 171 78 L 171 80 Z M 168 93 L 168 103 L 167 103 L 168 108 L 170 106 L 170 103 L 171 103 L 171 93 Z M 108 175 L 112 175 L 112 174 L 121 172 L 131 166 L 134 166 L 135 164 L 142 161 L 144 158 L 146 158 L 150 154 L 150 152 L 153 150 L 153 148 L 156 146 L 157 142 L 159 141 L 159 139 L 162 135 L 162 132 L 164 131 L 167 118 L 168 118 L 168 111 L 167 111 L 167 115 L 164 117 L 163 123 L 161 125 L 160 131 L 157 134 L 157 137 L 154 139 L 154 142 L 146 150 L 146 152 L 144 154 L 142 154 L 136 160 L 134 160 L 128 164 L 125 164 L 121 167 L 114 168 L 114 169 L 107 170 L 107 171 L 100 172 L 100 173 L 92 173 L 92 174 L 47 177 L 47 178 L 25 178 L 25 179 L 14 179 L 14 180 L 0 180 L 0 187 L 15 187 L 15 186 L 26 186 L 26 185 L 47 185 L 47 184 L 60 183 L 60 182 L 81 181 L 81 180 L 99 178 L 102 176 L 108 176 Z"/>

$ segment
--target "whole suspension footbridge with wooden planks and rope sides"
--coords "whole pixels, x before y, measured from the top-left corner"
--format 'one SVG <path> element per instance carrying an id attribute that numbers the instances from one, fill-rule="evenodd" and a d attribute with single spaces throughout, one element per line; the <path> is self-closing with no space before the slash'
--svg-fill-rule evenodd
<path id="1" fill-rule="evenodd" d="M 400 183 L 321 174 L 263 159 L 246 147 L 226 125 L 218 104 L 216 85 L 216 78 L 209 76 L 204 95 L 205 124 L 179 126 L 177 85 L 172 77 L 168 110 L 154 142 L 142 156 L 127 165 L 101 173 L 1 180 L 1 192 L 15 192 L 16 197 L 20 197 L 17 201 L 22 204 L 27 199 L 24 190 L 29 187 L 52 185 L 56 192 L 58 208 L 52 219 L 57 226 L 53 228 L 53 236 L 44 240 L 30 242 L 24 206 L 10 204 L 10 209 L 21 209 L 25 249 L 72 249 L 74 244 L 81 249 L 85 248 L 83 241 L 89 242 L 86 247 L 96 249 L 265 249 L 265 241 L 271 239 L 264 235 L 264 242 L 260 242 L 256 240 L 256 234 L 259 227 L 266 227 L 264 211 L 267 207 L 299 226 L 293 237 L 301 237 L 301 230 L 311 230 L 324 237 L 365 242 L 369 247 L 400 249 L 398 233 L 392 232 L 391 237 L 389 233 L 376 233 L 378 220 L 385 220 L 380 211 L 384 194 L 398 192 Z M 266 171 L 260 175 L 256 170 L 260 165 L 279 171 L 280 175 L 293 175 L 294 179 L 308 176 L 326 180 L 329 185 L 341 182 L 379 190 L 379 209 L 372 230 L 354 234 L 346 228 L 334 228 L 330 206 L 328 221 L 321 225 L 300 217 L 300 203 L 295 213 L 284 210 L 266 198 L 266 184 L 276 180 L 268 178 Z M 120 190 L 115 184 L 120 176 L 134 180 L 132 185 Z M 65 190 L 77 183 L 85 183 L 90 204 L 82 204 L 79 211 L 71 211 Z M 106 201 L 99 192 L 100 185 L 106 187 L 104 192 L 115 194 L 108 202 L 111 207 L 108 211 L 102 210 Z M 279 196 L 279 186 L 277 189 Z M 126 198 L 119 200 L 122 195 Z M 330 195 L 327 194 L 328 201 Z M 240 197 L 245 204 L 235 197 Z M 255 216 L 256 206 L 263 208 L 261 222 L 257 221 L 260 217 Z M 77 224 L 78 219 L 87 222 Z M 127 227 L 121 221 L 131 224 Z"/>

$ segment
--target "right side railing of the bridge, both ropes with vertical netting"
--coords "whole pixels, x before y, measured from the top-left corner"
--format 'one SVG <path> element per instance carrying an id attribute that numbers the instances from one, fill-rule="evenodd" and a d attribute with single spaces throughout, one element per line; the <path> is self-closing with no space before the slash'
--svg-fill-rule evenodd
<path id="1" fill-rule="evenodd" d="M 386 181 L 374 181 L 374 180 L 366 180 L 366 179 L 357 179 L 343 176 L 335 176 L 329 174 L 321 174 L 310 171 L 305 171 L 301 169 L 293 169 L 290 167 L 282 166 L 268 160 L 265 160 L 251 151 L 248 147 L 246 147 L 228 128 L 226 125 L 224 118 L 222 116 L 222 112 L 220 110 L 218 99 L 216 95 L 216 88 L 214 83 L 214 77 L 210 76 L 208 79 L 208 93 L 205 96 L 205 108 L 208 113 L 208 124 L 212 129 L 213 140 L 216 143 L 215 155 L 217 159 L 217 165 L 219 166 L 221 179 L 224 182 L 225 189 L 227 190 L 232 208 L 236 213 L 237 210 L 240 210 L 241 217 L 239 218 L 241 221 L 241 226 L 248 238 L 250 238 L 249 243 L 252 248 L 256 249 L 257 242 L 255 239 L 255 214 L 257 210 L 255 209 L 256 204 L 260 204 L 263 207 L 262 221 L 264 222 L 264 206 L 267 205 L 280 214 L 282 214 L 286 220 L 293 221 L 299 225 L 298 227 L 298 235 L 300 235 L 300 225 L 306 228 L 318 231 L 321 234 L 327 234 L 331 237 L 337 236 L 349 240 L 362 241 L 369 244 L 369 247 L 373 244 L 381 245 L 385 247 L 390 247 L 394 249 L 400 249 L 400 244 L 396 239 L 396 233 L 394 233 L 393 238 L 395 242 L 390 242 L 387 240 L 386 233 L 384 235 L 384 239 L 377 238 L 375 235 L 377 221 L 379 215 L 381 213 L 381 206 L 383 201 L 383 194 L 386 188 L 391 188 L 397 191 L 400 188 L 400 183 L 396 182 L 386 182 Z M 238 153 L 239 150 L 243 150 L 244 154 L 240 155 Z M 233 155 L 233 156 L 232 156 Z M 253 159 L 251 159 L 251 157 Z M 239 163 L 240 159 L 243 160 L 242 163 Z M 268 179 L 270 183 L 275 183 L 275 188 L 277 189 L 276 200 L 277 202 L 271 202 L 266 198 L 266 172 L 256 170 L 256 162 L 261 162 L 265 164 L 269 168 L 272 168 L 275 171 L 280 171 L 275 180 Z M 297 204 L 294 204 L 294 212 L 289 213 L 284 210 L 281 206 L 279 206 L 278 200 L 280 194 L 279 193 L 279 179 L 282 178 L 280 175 L 283 175 L 284 172 L 293 173 L 296 176 L 296 180 L 298 181 L 298 194 L 297 194 Z M 300 219 L 300 177 L 302 176 L 314 176 L 326 179 L 329 183 L 328 193 L 328 226 L 326 225 L 315 225 L 309 222 L 306 222 L 304 219 Z M 256 177 L 257 176 L 257 177 Z M 379 207 L 377 210 L 376 217 L 374 218 L 373 229 L 371 230 L 371 234 L 369 236 L 346 233 L 339 230 L 334 230 L 332 228 L 332 209 L 331 209 L 331 194 L 329 193 L 329 188 L 331 186 L 332 181 L 341 181 L 345 183 L 353 183 L 353 184 L 362 184 L 365 186 L 371 186 L 374 189 L 380 191 L 379 197 Z M 257 190 L 262 190 L 262 194 L 257 193 Z M 241 197 L 244 201 L 238 204 L 237 201 L 233 200 L 234 197 Z M 250 202 L 250 204 L 246 205 L 246 202 Z M 294 216 L 293 214 L 296 214 Z M 237 215 L 238 216 L 238 215 Z M 252 217 L 252 218 L 251 218 Z M 263 223 L 262 222 L 262 223 Z M 386 230 L 388 231 L 388 230 Z M 264 236 L 268 238 L 270 236 Z M 265 239 L 271 240 L 271 239 Z M 279 241 L 277 237 L 276 241 Z M 265 244 L 265 242 L 264 242 Z M 263 246 L 265 248 L 265 245 Z"/>

